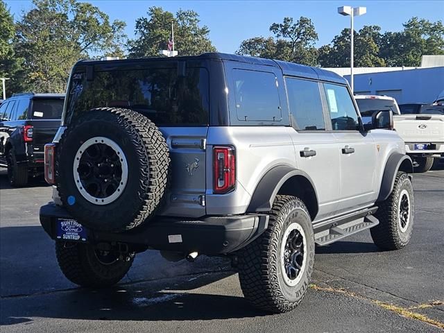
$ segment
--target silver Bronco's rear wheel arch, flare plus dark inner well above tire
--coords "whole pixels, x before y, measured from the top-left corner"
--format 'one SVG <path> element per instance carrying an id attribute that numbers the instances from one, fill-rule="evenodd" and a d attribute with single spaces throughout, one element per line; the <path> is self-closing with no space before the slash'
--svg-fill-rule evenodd
<path id="1" fill-rule="evenodd" d="M 300 198 L 312 221 L 318 214 L 318 194 L 313 180 L 304 171 L 287 165 L 278 165 L 265 173 L 251 197 L 247 212 L 270 211 L 278 194 Z"/>

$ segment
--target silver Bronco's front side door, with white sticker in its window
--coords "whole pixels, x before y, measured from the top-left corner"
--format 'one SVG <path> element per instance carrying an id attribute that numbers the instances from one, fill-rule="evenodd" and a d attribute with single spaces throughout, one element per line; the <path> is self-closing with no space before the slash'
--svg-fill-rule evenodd
<path id="1" fill-rule="evenodd" d="M 323 86 L 341 160 L 338 209 L 348 212 L 375 200 L 377 146 L 370 133 L 361 132 L 348 87 L 330 83 Z"/>

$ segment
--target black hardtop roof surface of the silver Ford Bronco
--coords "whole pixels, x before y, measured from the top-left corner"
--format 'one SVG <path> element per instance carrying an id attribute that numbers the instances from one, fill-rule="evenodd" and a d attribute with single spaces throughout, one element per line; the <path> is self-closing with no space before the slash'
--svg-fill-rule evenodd
<path id="1" fill-rule="evenodd" d="M 318 80 L 325 80 L 334 83 L 340 83 L 342 85 L 347 84 L 347 80 L 338 74 L 321 69 L 318 67 L 310 67 L 305 65 L 299 65 L 294 62 L 286 62 L 282 60 L 271 60 L 265 58 L 256 58 L 250 56 L 238 56 L 236 54 L 228 53 L 203 53 L 200 56 L 178 56 L 174 58 L 164 58 L 164 57 L 151 57 L 151 58 L 135 58 L 135 59 L 123 59 L 123 60 L 80 60 L 78 64 L 103 64 L 104 62 L 128 62 L 136 61 L 143 62 L 146 60 L 150 61 L 178 61 L 178 60 L 203 60 L 203 59 L 219 59 L 219 60 L 230 60 L 238 62 L 246 62 L 253 65 L 265 65 L 271 67 L 278 67 L 282 70 L 282 74 L 289 76 L 298 76 L 302 78 L 312 78 Z"/>

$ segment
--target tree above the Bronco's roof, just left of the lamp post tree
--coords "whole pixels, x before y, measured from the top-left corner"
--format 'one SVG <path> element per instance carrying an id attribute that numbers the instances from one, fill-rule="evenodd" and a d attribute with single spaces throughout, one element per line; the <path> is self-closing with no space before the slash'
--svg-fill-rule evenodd
<path id="1" fill-rule="evenodd" d="M 318 51 L 314 43 L 318 40 L 318 34 L 311 19 L 300 17 L 293 23 L 293 18 L 284 17 L 282 23 L 271 24 L 270 31 L 275 37 L 244 40 L 236 53 L 316 65 Z"/>

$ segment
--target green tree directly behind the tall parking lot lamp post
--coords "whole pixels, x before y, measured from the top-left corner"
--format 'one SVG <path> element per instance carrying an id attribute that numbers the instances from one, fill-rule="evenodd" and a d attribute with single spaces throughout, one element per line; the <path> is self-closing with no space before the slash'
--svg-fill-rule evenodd
<path id="1" fill-rule="evenodd" d="M 382 67 L 384 59 L 379 57 L 379 26 L 364 26 L 359 32 L 354 31 L 354 65 L 356 67 Z M 350 29 L 345 28 L 336 35 L 332 44 L 321 46 L 318 62 L 323 67 L 350 66 Z"/>

